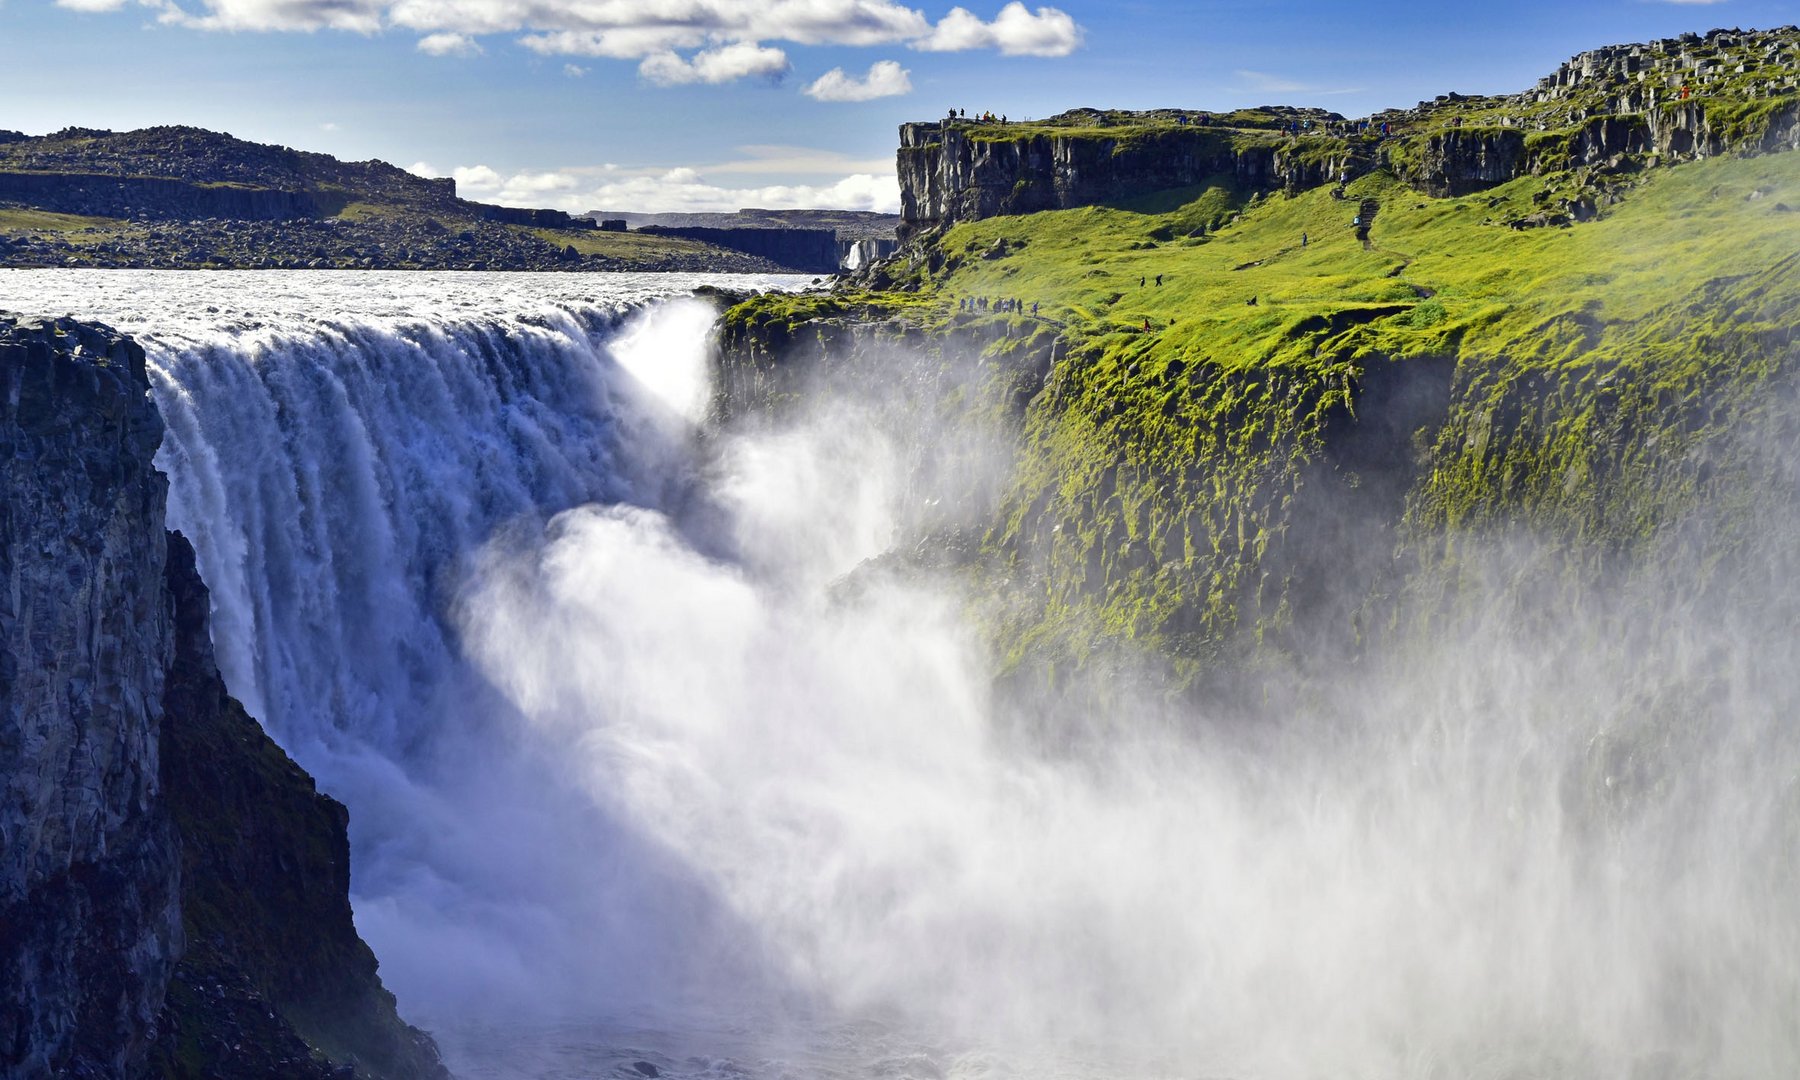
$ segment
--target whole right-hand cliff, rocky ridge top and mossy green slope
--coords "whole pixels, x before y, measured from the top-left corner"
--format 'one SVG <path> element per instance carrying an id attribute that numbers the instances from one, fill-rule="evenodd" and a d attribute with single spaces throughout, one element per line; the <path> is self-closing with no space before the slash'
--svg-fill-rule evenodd
<path id="1" fill-rule="evenodd" d="M 1541 90 L 1445 95 L 1420 113 L 1440 128 L 1386 137 L 1328 119 L 1309 137 L 1301 119 L 1273 137 L 1354 151 L 1352 176 L 1312 187 L 1240 178 L 1271 139 L 1258 117 L 1157 115 L 1136 144 L 1141 117 L 1121 113 L 1008 126 L 1012 142 L 909 128 L 931 142 L 902 162 L 950 162 L 907 182 L 927 191 L 911 243 L 830 297 L 733 310 L 720 416 L 880 378 L 880 338 L 976 373 L 1035 342 L 1015 382 L 983 374 L 941 403 L 1008 418 L 1001 490 L 896 549 L 956 553 L 1021 677 L 1134 655 L 1174 686 L 1282 693 L 1283 671 L 1420 626 L 1400 605 L 1453 596 L 1480 576 L 1469 553 L 1519 535 L 1552 578 L 1651 572 L 1647 553 L 1739 513 L 1733 484 L 1766 473 L 1742 432 L 1786 423 L 1769 410 L 1791 400 L 1800 311 L 1793 38 L 1696 36 L 1789 59 L 1753 86 L 1696 79 L 1643 117 Z M 1570 126 L 1472 122 L 1525 104 Z M 1044 193 L 1055 209 L 1008 212 Z M 1750 544 L 1728 536 L 1699 547 Z"/>

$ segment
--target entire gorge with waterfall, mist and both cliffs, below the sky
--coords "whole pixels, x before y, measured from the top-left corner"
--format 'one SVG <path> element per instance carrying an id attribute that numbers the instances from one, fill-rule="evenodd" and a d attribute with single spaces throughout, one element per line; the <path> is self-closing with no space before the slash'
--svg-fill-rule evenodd
<path id="1" fill-rule="evenodd" d="M 1791 38 L 909 126 L 833 288 L 0 270 L 7 1069 L 1791 1075 Z"/>

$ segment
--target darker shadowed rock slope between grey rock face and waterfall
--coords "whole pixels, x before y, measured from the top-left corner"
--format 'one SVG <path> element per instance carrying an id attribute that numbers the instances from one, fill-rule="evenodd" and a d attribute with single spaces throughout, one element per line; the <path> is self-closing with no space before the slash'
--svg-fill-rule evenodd
<path id="1" fill-rule="evenodd" d="M 446 1076 L 430 1037 L 396 1015 L 351 922 L 349 814 L 225 691 L 207 587 L 180 533 L 169 535 L 167 590 L 162 781 L 182 835 L 187 952 L 155 1071 L 326 1080 L 331 1062 L 347 1062 L 360 1076 Z"/>

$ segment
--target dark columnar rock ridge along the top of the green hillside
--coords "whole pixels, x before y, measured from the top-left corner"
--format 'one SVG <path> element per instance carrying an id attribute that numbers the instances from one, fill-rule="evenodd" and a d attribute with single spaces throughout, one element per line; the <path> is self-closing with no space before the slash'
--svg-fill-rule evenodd
<path id="1" fill-rule="evenodd" d="M 1714 31 L 1584 52 L 1528 92 L 1444 94 L 1361 121 L 1262 108 L 1219 115 L 1075 110 L 1024 124 L 904 124 L 900 234 L 1202 184 L 1294 191 L 1384 169 L 1449 196 L 1525 175 L 1629 173 L 1721 153 L 1793 149 L 1800 146 L 1796 58 L 1795 27 Z M 1571 202 L 1584 200 L 1591 209 L 1597 193 Z"/>

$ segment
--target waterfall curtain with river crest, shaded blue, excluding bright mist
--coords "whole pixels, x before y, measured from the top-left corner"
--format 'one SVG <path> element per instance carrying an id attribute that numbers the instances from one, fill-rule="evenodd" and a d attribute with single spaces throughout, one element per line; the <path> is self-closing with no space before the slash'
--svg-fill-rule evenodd
<path id="1" fill-rule="evenodd" d="M 729 985 L 738 945 L 707 943 L 727 914 L 527 738 L 455 625 L 481 562 L 558 513 L 689 513 L 700 281 L 133 277 L 149 288 L 32 284 L 144 340 L 169 527 L 209 581 L 221 673 L 349 805 L 358 925 L 405 1006 L 553 1013 Z"/>

